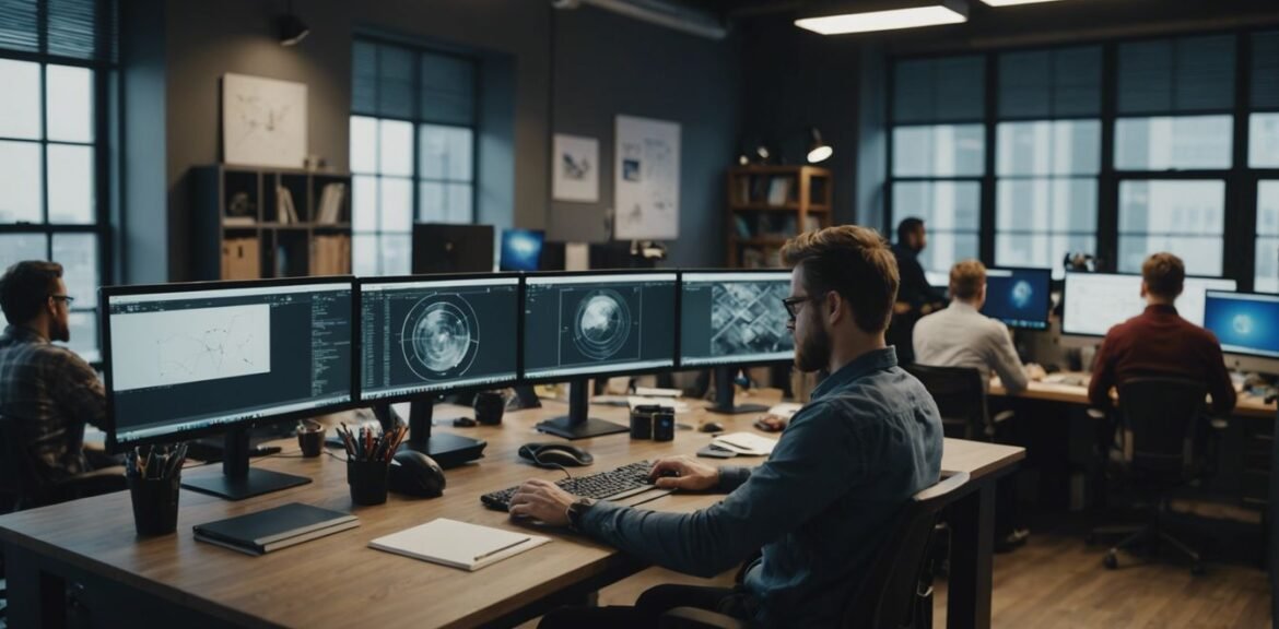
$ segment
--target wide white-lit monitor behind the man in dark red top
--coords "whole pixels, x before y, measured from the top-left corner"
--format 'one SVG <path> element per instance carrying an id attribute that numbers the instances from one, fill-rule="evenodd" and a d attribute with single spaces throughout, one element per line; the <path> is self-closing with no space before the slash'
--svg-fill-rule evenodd
<path id="1" fill-rule="evenodd" d="M 1234 280 L 1220 277 L 1186 277 L 1177 313 L 1197 326 L 1204 325 L 1204 293 L 1236 289 Z M 1141 297 L 1141 275 L 1065 274 L 1064 314 L 1062 332 L 1105 336 L 1110 327 L 1146 309 Z"/>

